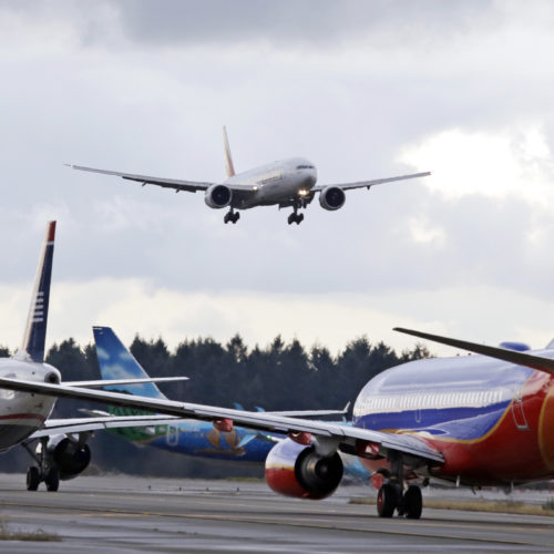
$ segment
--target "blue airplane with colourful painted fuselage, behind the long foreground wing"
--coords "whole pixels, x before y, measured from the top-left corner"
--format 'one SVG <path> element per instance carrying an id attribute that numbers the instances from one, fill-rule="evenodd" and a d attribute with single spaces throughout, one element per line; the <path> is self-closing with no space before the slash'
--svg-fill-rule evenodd
<path id="1" fill-rule="evenodd" d="M 136 361 L 134 356 L 123 346 L 110 327 L 93 327 L 94 342 L 103 379 L 143 379 L 150 376 Z M 154 383 L 119 384 L 106 387 L 127 394 L 138 394 L 148 398 L 166 399 Z M 133 410 L 127 408 L 110 409 L 110 412 L 94 410 L 94 416 L 106 417 L 110 414 L 130 416 Z M 341 417 L 347 413 L 337 410 L 316 410 L 296 412 L 271 412 L 280 416 L 326 418 Z M 226 430 L 225 427 L 214 428 L 211 422 L 195 419 L 179 419 L 160 422 L 157 425 L 144 428 L 115 428 L 111 432 L 137 445 L 150 445 L 170 452 L 185 455 L 208 458 L 212 460 L 227 460 L 264 463 L 269 451 L 277 442 L 286 437 L 263 433 L 235 427 Z M 361 466 L 357 456 L 342 455 L 342 462 L 348 476 L 351 479 L 369 479 L 369 473 Z"/>

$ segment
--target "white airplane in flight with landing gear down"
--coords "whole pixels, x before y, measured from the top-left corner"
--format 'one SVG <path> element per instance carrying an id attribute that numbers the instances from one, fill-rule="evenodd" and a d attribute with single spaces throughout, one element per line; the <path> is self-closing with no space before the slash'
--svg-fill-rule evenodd
<path id="1" fill-rule="evenodd" d="M 430 172 L 400 175 L 397 177 L 377 178 L 370 181 L 358 181 L 355 183 L 339 183 L 332 185 L 316 185 L 316 166 L 304 157 L 290 157 L 273 162 L 243 173 L 235 173 L 235 166 L 230 156 L 227 131 L 223 127 L 225 165 L 227 178 L 223 182 L 198 182 L 181 181 L 174 178 L 152 177 L 148 175 L 136 175 L 107 170 L 98 170 L 82 165 L 69 165 L 73 170 L 115 175 L 127 181 L 136 181 L 142 185 L 156 185 L 164 188 L 173 188 L 176 193 L 182 191 L 196 193 L 204 192 L 204 201 L 215 209 L 228 208 L 225 214 L 225 223 L 237 223 L 240 211 L 257 206 L 291 207 L 293 213 L 288 216 L 288 224 L 299 225 L 304 220 L 304 214 L 298 211 L 306 208 L 319 194 L 319 204 L 324 209 L 336 211 L 345 205 L 345 191 L 352 188 L 371 188 L 375 185 L 403 181 L 408 178 L 425 177 Z"/>

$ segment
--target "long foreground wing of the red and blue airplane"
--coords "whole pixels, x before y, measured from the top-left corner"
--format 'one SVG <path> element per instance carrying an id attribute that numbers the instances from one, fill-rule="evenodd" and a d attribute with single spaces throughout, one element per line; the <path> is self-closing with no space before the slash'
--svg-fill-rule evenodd
<path id="1" fill-rule="evenodd" d="M 268 412 L 248 412 L 230 408 L 175 402 L 166 399 L 136 397 L 119 392 L 21 381 L 18 379 L 2 378 L 0 379 L 0 387 L 9 390 L 60 398 L 94 400 L 111 406 L 151 410 L 177 418 L 198 419 L 203 421 L 229 419 L 237 425 L 259 431 L 291 435 L 296 433 L 310 433 L 316 438 L 318 443 L 331 444 L 332 448 L 339 448 L 343 452 L 367 458 L 382 458 L 389 451 L 397 451 L 412 456 L 419 462 L 444 462 L 441 452 L 429 445 L 424 440 L 411 434 L 384 433 L 325 421 L 287 418 Z"/>

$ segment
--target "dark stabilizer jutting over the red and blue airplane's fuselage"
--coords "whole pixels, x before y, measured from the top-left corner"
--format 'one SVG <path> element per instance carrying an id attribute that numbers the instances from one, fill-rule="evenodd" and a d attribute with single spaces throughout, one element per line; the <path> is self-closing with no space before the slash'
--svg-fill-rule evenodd
<path id="1" fill-rule="evenodd" d="M 412 335 L 413 337 L 419 337 L 420 339 L 432 340 L 433 342 L 439 342 L 441 345 L 461 348 L 470 352 L 481 353 L 483 356 L 489 356 L 490 358 L 496 358 L 497 360 L 515 363 L 516 366 L 525 366 L 531 369 L 554 375 L 554 360 L 551 360 L 550 358 L 542 358 L 541 356 L 509 350 L 506 348 L 479 345 L 478 342 L 469 342 L 468 340 L 451 339 L 449 337 L 414 331 L 412 329 L 403 329 L 402 327 L 394 327 L 393 330 L 404 332 L 406 335 Z"/>

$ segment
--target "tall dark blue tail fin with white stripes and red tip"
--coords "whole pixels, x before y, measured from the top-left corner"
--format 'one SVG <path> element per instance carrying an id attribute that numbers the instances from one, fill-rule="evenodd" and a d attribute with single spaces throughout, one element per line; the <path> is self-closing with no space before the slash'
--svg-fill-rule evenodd
<path id="1" fill-rule="evenodd" d="M 38 363 L 44 361 L 44 342 L 47 340 L 48 305 L 50 301 L 50 281 L 52 277 L 52 260 L 54 256 L 55 222 L 47 226 L 47 235 L 39 258 L 39 267 L 34 277 L 34 287 L 29 315 L 27 316 L 25 334 L 21 348 L 13 358 L 31 360 Z"/>

